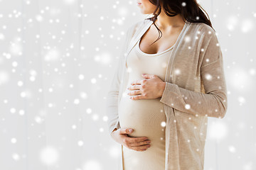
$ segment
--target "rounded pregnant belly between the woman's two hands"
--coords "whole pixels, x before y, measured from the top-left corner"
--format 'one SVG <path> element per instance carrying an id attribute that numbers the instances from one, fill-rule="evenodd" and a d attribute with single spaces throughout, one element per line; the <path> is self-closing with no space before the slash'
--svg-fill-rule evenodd
<path id="1" fill-rule="evenodd" d="M 127 95 L 128 91 L 125 91 L 118 107 L 121 128 L 133 128 L 130 137 L 164 140 L 166 115 L 160 98 L 132 100 Z"/>

